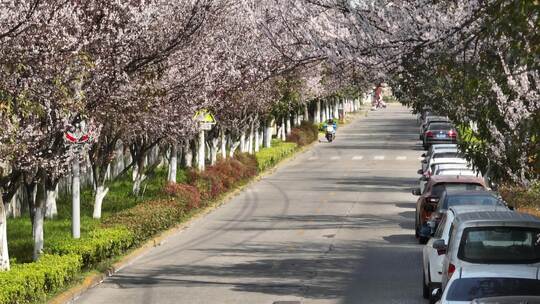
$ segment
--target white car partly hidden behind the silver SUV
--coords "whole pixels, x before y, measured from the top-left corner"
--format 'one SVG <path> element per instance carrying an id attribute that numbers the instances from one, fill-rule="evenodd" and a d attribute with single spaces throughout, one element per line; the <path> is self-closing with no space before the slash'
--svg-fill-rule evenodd
<path id="1" fill-rule="evenodd" d="M 422 260 L 423 260 L 423 296 L 428 299 L 431 295 L 431 292 L 435 288 L 441 287 L 442 282 L 442 269 L 443 269 L 443 259 L 445 255 L 444 250 L 438 251 L 434 248 L 434 243 L 443 243 L 445 246 L 448 245 L 448 237 L 450 234 L 450 227 L 454 218 L 457 214 L 462 214 L 466 212 L 478 212 L 478 211 L 507 211 L 506 207 L 496 207 L 496 206 L 455 206 L 450 207 L 447 212 L 445 212 L 441 218 L 433 237 L 429 239 L 427 244 L 422 250 Z"/>

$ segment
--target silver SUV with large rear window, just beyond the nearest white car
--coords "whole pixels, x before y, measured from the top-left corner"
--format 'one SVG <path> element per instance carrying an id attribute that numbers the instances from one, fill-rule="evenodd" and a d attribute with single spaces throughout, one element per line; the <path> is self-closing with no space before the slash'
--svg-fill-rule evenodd
<path id="1" fill-rule="evenodd" d="M 450 227 L 442 287 L 463 266 L 474 264 L 525 264 L 540 266 L 540 219 L 512 211 L 458 214 Z M 446 248 L 445 248 L 446 247 Z"/>

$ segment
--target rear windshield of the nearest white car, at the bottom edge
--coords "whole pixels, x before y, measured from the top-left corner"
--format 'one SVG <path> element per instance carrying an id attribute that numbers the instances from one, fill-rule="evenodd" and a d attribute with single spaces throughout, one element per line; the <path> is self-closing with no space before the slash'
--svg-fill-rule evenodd
<path id="1" fill-rule="evenodd" d="M 472 301 L 502 296 L 540 296 L 540 280 L 521 278 L 464 278 L 448 289 L 448 301 Z"/>

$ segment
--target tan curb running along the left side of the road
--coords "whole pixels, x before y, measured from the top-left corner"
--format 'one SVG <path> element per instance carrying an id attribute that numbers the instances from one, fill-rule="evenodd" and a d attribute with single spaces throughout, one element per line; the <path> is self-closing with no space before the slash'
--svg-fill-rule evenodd
<path id="1" fill-rule="evenodd" d="M 361 109 L 358 111 L 358 114 L 355 114 L 353 120 L 363 117 L 364 115 L 367 116 L 367 111 L 364 114 L 364 111 Z M 348 125 L 349 123 L 347 123 Z M 83 282 L 80 284 L 77 284 L 68 290 L 60 293 L 59 295 L 54 296 L 51 300 L 49 300 L 47 303 L 49 304 L 64 304 L 64 303 L 73 303 L 75 300 L 77 300 L 83 293 L 85 293 L 87 290 L 101 284 L 105 279 L 107 279 L 110 276 L 113 276 L 115 273 L 120 271 L 122 268 L 125 268 L 126 266 L 131 265 L 133 262 L 135 262 L 138 258 L 142 257 L 144 254 L 148 253 L 152 248 L 161 246 L 166 242 L 166 239 L 170 236 L 181 232 L 182 230 L 189 227 L 189 225 L 195 221 L 196 219 L 203 217 L 210 212 L 214 211 L 215 209 L 221 207 L 222 205 L 229 202 L 233 197 L 237 196 L 241 192 L 243 192 L 247 187 L 251 186 L 252 184 L 259 182 L 264 177 L 271 175 L 275 173 L 276 170 L 278 170 L 283 165 L 293 161 L 298 156 L 302 155 L 303 153 L 310 150 L 313 146 L 318 144 L 319 141 L 316 140 L 306 146 L 299 147 L 297 151 L 292 153 L 291 155 L 283 158 L 279 161 L 275 166 L 267 168 L 265 171 L 259 173 L 257 176 L 252 178 L 247 183 L 238 186 L 238 188 L 225 193 L 223 197 L 220 197 L 215 202 L 212 202 L 209 206 L 205 207 L 204 209 L 201 209 L 193 214 L 187 221 L 180 223 L 168 230 L 165 230 L 161 232 L 159 235 L 153 237 L 152 239 L 148 240 L 144 243 L 141 247 L 138 247 L 136 249 L 133 249 L 128 254 L 124 255 L 120 261 L 114 263 L 111 267 L 109 267 L 107 270 L 105 270 L 102 273 L 92 274 L 84 278 Z"/>

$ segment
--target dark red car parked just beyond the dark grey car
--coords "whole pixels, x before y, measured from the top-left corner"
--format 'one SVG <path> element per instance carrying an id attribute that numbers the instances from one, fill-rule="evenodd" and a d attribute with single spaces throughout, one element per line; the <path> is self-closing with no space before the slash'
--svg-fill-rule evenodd
<path id="1" fill-rule="evenodd" d="M 420 195 L 416 201 L 415 235 L 420 244 L 425 244 L 429 237 L 421 237 L 422 226 L 431 218 L 437 208 L 439 199 L 445 190 L 475 191 L 485 190 L 484 180 L 476 176 L 432 176 L 426 184 L 424 192 L 420 188 L 413 189 L 414 195 Z"/>

